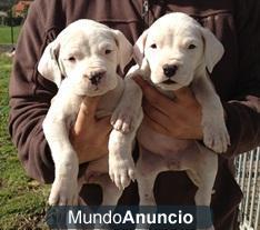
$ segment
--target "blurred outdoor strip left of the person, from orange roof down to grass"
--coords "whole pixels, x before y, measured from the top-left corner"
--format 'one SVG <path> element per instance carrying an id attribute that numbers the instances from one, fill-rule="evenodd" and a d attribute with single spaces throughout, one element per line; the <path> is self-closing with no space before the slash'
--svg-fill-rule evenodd
<path id="1" fill-rule="evenodd" d="M 0 229 L 48 229 L 49 187 L 26 176 L 7 126 L 12 59 L 31 2 L 0 0 Z"/>

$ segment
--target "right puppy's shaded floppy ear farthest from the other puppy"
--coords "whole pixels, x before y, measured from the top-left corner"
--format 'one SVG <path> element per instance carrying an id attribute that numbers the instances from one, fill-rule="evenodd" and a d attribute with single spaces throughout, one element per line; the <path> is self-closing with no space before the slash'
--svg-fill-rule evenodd
<path id="1" fill-rule="evenodd" d="M 220 61 L 224 53 L 222 43 L 214 37 L 214 34 L 204 28 L 201 28 L 204 39 L 204 61 L 206 67 L 211 73 L 214 66 Z"/>

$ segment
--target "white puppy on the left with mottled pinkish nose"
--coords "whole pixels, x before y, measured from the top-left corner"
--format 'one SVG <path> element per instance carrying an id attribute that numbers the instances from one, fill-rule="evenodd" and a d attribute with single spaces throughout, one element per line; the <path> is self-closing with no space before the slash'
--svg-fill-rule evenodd
<path id="1" fill-rule="evenodd" d="M 69 24 L 46 48 L 38 70 L 59 88 L 43 121 L 44 136 L 56 167 L 50 204 L 77 204 L 78 189 L 86 182 L 100 183 L 103 188 L 103 204 L 116 204 L 121 191 L 109 179 L 108 172 L 122 189 L 134 179 L 132 141 L 142 116 L 137 114 L 137 120 L 124 117 L 131 119 L 130 124 L 118 119 L 117 113 L 113 114 L 116 129 L 109 138 L 109 159 L 104 157 L 90 162 L 79 183 L 78 157 L 69 140 L 69 130 L 86 96 L 102 96 L 97 118 L 112 114 L 121 97 L 126 104 L 131 102 L 124 94 L 130 92 L 128 83 L 131 86 L 131 81 L 127 81 L 124 87 L 124 81 L 117 73 L 118 68 L 123 71 L 131 57 L 132 46 L 120 31 L 87 19 Z M 140 96 L 140 102 L 134 106 L 140 111 L 141 93 L 137 94 Z M 130 114 L 134 114 L 134 111 Z M 101 176 L 98 177 L 99 174 Z"/>

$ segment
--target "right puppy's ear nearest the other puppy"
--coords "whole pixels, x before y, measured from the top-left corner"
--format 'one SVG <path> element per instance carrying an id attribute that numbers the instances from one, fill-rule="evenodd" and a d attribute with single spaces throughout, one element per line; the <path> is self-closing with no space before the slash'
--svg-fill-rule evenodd
<path id="1" fill-rule="evenodd" d="M 133 46 L 133 58 L 139 66 L 142 66 L 144 58 L 144 47 L 147 41 L 148 30 L 144 30 L 142 34 L 138 38 L 136 44 Z"/>

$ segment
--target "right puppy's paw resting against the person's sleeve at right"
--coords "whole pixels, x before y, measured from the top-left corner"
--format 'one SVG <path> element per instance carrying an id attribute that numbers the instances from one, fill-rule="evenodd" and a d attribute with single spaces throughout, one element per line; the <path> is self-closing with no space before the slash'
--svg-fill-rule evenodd
<path id="1" fill-rule="evenodd" d="M 219 124 L 213 121 L 204 123 L 203 142 L 214 152 L 226 152 L 228 150 L 228 146 L 230 146 L 230 137 L 226 124 Z"/>

